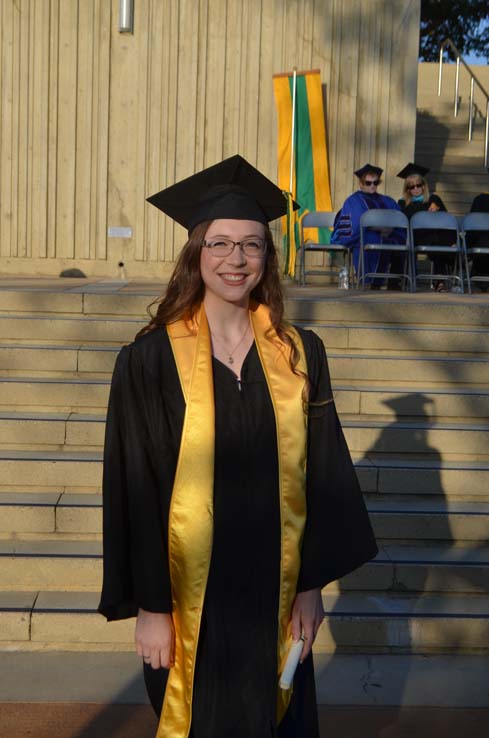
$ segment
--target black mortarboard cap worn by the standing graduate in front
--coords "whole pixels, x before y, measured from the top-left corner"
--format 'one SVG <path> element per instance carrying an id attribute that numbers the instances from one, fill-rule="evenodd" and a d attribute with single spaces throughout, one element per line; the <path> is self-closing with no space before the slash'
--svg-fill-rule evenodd
<path id="1" fill-rule="evenodd" d="M 147 198 L 191 231 L 205 220 L 268 223 L 287 214 L 282 190 L 236 154 Z M 299 205 L 294 202 L 294 210 Z"/>

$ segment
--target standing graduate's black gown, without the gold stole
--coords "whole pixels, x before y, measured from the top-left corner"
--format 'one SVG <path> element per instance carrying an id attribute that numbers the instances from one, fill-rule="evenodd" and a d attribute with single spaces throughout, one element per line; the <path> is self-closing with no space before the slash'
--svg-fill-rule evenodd
<path id="1" fill-rule="evenodd" d="M 301 331 L 311 401 L 331 397 L 320 339 Z M 255 346 L 241 389 L 213 360 L 216 409 L 214 541 L 195 672 L 192 738 L 318 735 L 312 660 L 298 670 L 275 725 L 280 511 L 273 407 Z M 104 586 L 108 619 L 139 607 L 171 611 L 167 536 L 184 399 L 169 340 L 156 330 L 118 358 L 104 463 Z M 333 403 L 311 406 L 307 522 L 299 590 L 322 587 L 376 554 Z M 146 668 L 148 672 L 148 668 Z M 164 679 L 161 681 L 164 690 Z"/>

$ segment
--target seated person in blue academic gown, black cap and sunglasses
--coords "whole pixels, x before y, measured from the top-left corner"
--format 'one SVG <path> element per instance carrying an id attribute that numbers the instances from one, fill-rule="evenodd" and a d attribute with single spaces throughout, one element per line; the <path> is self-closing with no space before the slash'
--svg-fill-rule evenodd
<path id="1" fill-rule="evenodd" d="M 381 195 L 377 189 L 382 182 L 383 169 L 373 164 L 365 164 L 355 171 L 358 177 L 359 189 L 347 197 L 341 209 L 336 214 L 331 243 L 338 243 L 352 249 L 353 265 L 358 274 L 360 259 L 360 218 L 367 210 L 399 210 L 399 205 L 392 197 Z M 377 231 L 369 228 L 365 233 L 366 243 L 401 243 L 402 234 L 397 231 Z M 390 255 L 386 252 L 365 252 L 365 272 L 387 272 L 390 265 Z M 365 279 L 371 289 L 380 289 L 382 280 Z M 389 286 L 392 286 L 389 281 Z"/>

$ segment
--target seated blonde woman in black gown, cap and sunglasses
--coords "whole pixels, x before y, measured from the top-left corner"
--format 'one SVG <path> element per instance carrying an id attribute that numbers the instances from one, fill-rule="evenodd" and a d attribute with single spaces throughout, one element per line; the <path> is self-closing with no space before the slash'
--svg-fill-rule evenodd
<path id="1" fill-rule="evenodd" d="M 411 219 L 415 213 L 423 210 L 436 213 L 442 211 L 447 212 L 445 204 L 441 197 L 435 193 L 430 194 L 426 175 L 430 170 L 421 164 L 409 162 L 404 169 L 397 175 L 404 180 L 402 188 L 402 197 L 398 201 L 402 212 Z M 431 245 L 431 246 L 452 246 L 456 243 L 457 235 L 454 231 L 439 231 L 420 229 L 415 233 L 415 246 Z M 395 256 L 398 256 L 395 254 Z M 453 269 L 453 259 L 443 254 L 431 257 L 433 262 L 434 274 L 450 274 Z M 392 269 L 397 269 L 396 261 L 393 261 Z M 434 283 L 434 289 L 437 292 L 446 292 L 447 280 L 438 280 Z"/>

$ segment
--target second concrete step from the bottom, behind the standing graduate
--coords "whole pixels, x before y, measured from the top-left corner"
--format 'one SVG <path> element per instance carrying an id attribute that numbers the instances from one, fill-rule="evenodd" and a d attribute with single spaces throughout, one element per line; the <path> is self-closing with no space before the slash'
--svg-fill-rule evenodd
<path id="1" fill-rule="evenodd" d="M 0 590 L 100 591 L 102 544 L 78 540 L 1 540 Z M 384 543 L 373 562 L 328 592 L 485 592 L 489 549 Z"/>

